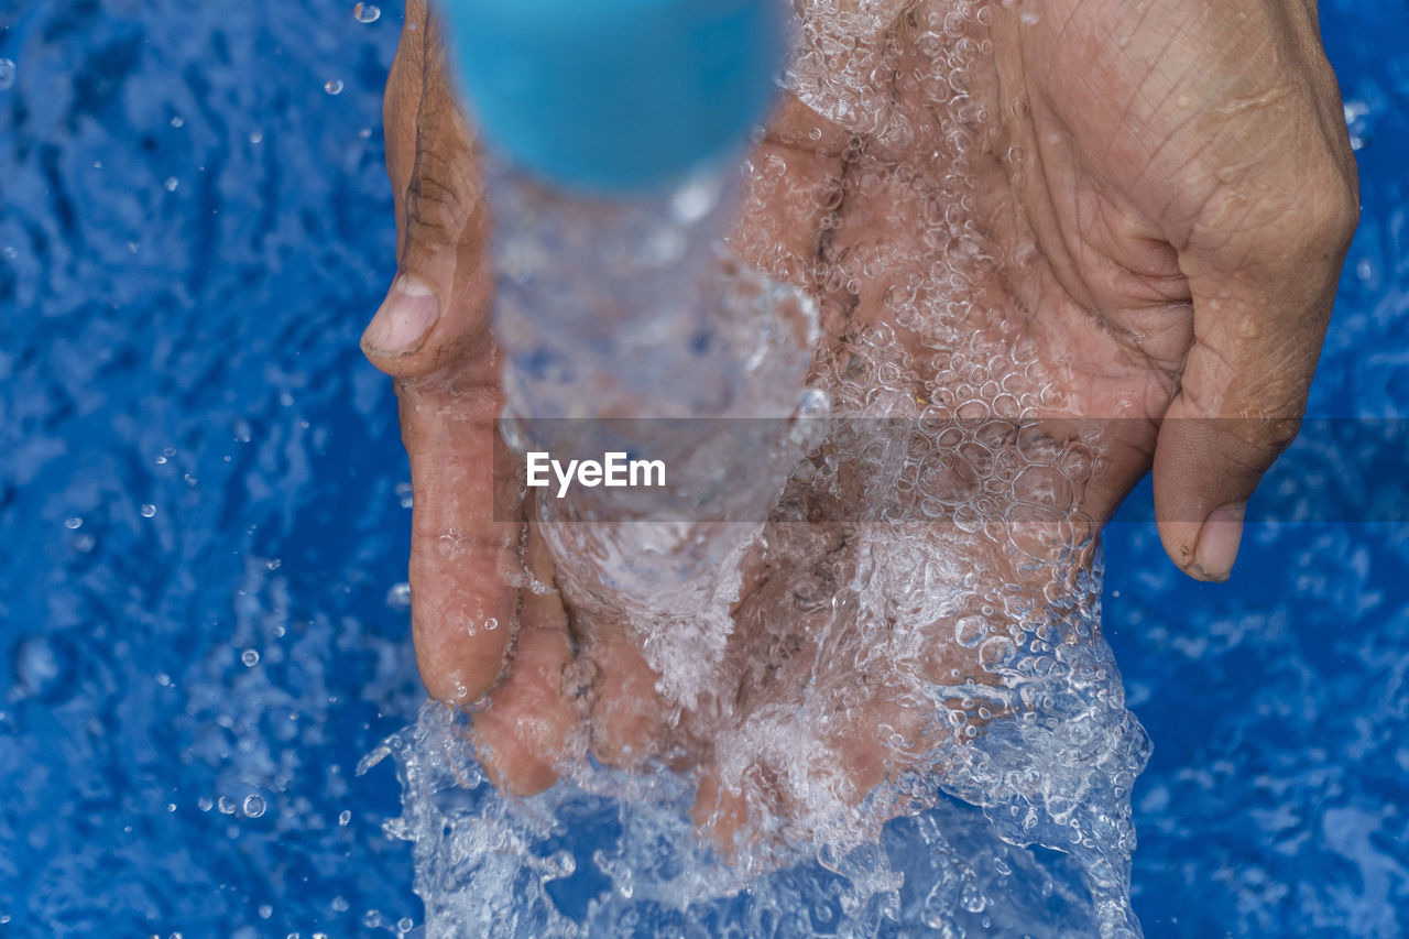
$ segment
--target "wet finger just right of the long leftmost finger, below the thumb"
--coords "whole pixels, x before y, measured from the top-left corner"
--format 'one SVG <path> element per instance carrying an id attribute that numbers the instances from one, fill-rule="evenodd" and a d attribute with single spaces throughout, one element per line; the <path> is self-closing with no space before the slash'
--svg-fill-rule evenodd
<path id="1" fill-rule="evenodd" d="M 552 561 L 542 541 L 530 536 L 527 567 L 538 582 L 552 582 Z M 480 761 L 495 784 L 514 795 L 552 785 L 569 756 L 578 725 L 575 695 L 565 688 L 572 663 L 568 615 L 557 591 L 520 592 L 514 667 L 490 692 L 489 708 L 475 715 Z"/>

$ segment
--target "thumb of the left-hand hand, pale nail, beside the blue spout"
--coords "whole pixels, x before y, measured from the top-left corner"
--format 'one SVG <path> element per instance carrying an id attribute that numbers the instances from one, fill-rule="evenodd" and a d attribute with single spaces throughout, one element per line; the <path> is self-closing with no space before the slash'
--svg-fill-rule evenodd
<path id="1" fill-rule="evenodd" d="M 440 21 L 413 7 L 383 106 L 397 274 L 362 334 L 368 360 L 397 378 L 430 375 L 485 343 L 493 285 L 473 134 L 449 80 Z"/>

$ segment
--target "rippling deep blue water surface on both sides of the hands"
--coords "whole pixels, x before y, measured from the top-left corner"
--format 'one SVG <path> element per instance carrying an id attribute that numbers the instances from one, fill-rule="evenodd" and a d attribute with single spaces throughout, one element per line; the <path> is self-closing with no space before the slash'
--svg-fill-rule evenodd
<path id="1" fill-rule="evenodd" d="M 1409 13 L 1322 17 L 1364 219 L 1312 412 L 1403 419 Z M 423 923 L 392 761 L 354 773 L 424 696 L 395 402 L 356 351 L 399 24 L 0 0 L 0 935 Z M 1364 488 L 1333 465 L 1313 438 L 1279 474 Z M 1409 931 L 1409 526 L 1255 524 L 1203 587 L 1140 499 L 1105 615 L 1154 740 L 1147 935 Z"/>

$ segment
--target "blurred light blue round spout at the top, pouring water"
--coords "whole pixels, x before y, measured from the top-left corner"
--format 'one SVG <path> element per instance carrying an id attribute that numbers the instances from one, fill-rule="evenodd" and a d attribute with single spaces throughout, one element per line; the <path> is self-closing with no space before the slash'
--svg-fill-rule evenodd
<path id="1" fill-rule="evenodd" d="M 669 185 L 741 148 L 782 66 L 779 0 L 442 0 L 483 138 L 596 195 Z"/>

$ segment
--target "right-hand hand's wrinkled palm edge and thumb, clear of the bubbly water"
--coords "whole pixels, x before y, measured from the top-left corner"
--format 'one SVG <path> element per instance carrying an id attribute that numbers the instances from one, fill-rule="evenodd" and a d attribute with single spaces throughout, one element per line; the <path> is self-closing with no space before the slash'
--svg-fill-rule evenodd
<path id="1" fill-rule="evenodd" d="M 1158 424 L 1123 431 L 1096 515 L 1153 458 L 1169 557 L 1226 579 L 1360 211 L 1316 4 L 1044 0 L 995 10 L 992 42 L 995 154 L 1041 257 L 1014 299 L 1084 415 Z"/>

